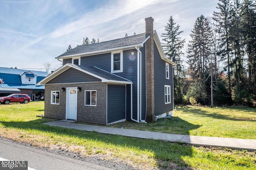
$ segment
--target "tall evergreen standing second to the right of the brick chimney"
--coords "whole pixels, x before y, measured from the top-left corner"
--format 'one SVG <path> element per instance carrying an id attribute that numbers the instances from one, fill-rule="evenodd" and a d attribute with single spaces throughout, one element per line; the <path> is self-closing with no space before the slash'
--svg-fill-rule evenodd
<path id="1" fill-rule="evenodd" d="M 192 33 L 190 34 L 191 40 L 188 43 L 188 64 L 190 74 L 194 81 L 198 81 L 198 86 L 201 89 L 201 100 L 206 103 L 206 73 L 210 72 L 210 56 L 211 51 L 211 28 L 209 21 L 203 15 L 196 19 Z M 192 96 L 190 96 L 192 97 Z"/>

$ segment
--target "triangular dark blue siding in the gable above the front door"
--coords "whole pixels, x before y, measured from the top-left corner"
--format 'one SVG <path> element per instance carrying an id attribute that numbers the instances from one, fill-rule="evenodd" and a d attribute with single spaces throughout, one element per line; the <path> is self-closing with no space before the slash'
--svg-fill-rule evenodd
<path id="1" fill-rule="evenodd" d="M 47 82 L 47 84 L 76 82 L 101 82 L 101 80 L 79 70 L 76 70 L 75 68 L 69 68 L 68 70 L 62 72 L 62 74 Z"/>

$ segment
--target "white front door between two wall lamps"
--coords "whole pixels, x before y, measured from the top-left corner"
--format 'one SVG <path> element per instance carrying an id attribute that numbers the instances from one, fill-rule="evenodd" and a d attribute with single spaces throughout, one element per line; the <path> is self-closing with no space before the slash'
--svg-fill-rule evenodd
<path id="1" fill-rule="evenodd" d="M 76 120 L 77 115 L 77 88 L 67 88 L 66 119 Z"/>

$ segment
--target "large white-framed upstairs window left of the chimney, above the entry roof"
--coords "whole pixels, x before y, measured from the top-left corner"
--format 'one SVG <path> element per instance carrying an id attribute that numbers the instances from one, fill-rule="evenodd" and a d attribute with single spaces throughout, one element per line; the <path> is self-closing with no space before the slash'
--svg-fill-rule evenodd
<path id="1" fill-rule="evenodd" d="M 111 54 L 111 72 L 123 72 L 123 52 Z"/>

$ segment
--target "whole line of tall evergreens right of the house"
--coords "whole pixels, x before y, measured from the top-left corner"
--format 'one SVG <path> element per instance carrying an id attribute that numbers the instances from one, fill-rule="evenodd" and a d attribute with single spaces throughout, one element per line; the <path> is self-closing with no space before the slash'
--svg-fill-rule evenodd
<path id="1" fill-rule="evenodd" d="M 219 0 L 212 17 L 196 19 L 186 49 L 179 29 L 171 16 L 161 35 L 166 57 L 177 63 L 174 104 L 252 106 L 256 100 L 255 0 Z"/>

